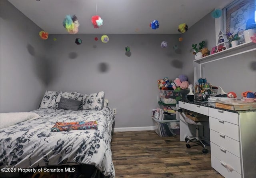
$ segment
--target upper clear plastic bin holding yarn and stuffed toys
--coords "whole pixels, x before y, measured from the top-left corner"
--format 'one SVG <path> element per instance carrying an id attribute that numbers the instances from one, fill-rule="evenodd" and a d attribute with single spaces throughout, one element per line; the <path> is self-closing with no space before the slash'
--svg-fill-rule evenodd
<path id="1" fill-rule="evenodd" d="M 159 90 L 160 101 L 164 104 L 177 104 L 178 100 L 186 100 L 190 90 Z"/>

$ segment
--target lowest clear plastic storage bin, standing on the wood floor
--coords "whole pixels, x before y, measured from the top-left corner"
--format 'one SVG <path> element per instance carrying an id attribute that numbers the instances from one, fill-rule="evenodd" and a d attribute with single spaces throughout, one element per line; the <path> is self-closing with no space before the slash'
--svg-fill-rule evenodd
<path id="1" fill-rule="evenodd" d="M 152 117 L 154 122 L 154 131 L 158 136 L 177 136 L 180 135 L 179 120 L 158 120 Z"/>

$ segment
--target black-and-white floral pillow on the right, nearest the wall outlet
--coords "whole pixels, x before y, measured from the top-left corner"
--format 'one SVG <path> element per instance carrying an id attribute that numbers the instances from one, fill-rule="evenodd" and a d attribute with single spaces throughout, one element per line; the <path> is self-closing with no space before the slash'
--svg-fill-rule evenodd
<path id="1" fill-rule="evenodd" d="M 104 106 L 104 96 L 104 91 L 92 94 L 85 94 L 82 98 L 82 109 L 102 109 Z"/>

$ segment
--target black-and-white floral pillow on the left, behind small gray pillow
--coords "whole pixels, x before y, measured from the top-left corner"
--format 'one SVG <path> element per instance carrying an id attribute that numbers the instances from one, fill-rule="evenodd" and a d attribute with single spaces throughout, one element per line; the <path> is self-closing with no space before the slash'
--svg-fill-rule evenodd
<path id="1" fill-rule="evenodd" d="M 39 109 L 58 108 L 60 97 L 74 99 L 77 92 L 60 92 L 60 91 L 46 91 L 41 101 Z"/>

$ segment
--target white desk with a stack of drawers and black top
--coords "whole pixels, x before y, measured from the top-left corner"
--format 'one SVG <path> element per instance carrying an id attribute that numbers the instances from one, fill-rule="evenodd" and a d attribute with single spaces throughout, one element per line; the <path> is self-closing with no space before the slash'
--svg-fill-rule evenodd
<path id="1" fill-rule="evenodd" d="M 212 168 L 225 178 L 256 177 L 256 110 L 236 112 L 182 101 L 179 107 L 209 117 Z M 191 132 L 182 116 L 180 141 L 185 141 Z"/>

